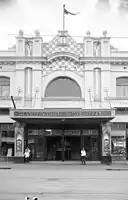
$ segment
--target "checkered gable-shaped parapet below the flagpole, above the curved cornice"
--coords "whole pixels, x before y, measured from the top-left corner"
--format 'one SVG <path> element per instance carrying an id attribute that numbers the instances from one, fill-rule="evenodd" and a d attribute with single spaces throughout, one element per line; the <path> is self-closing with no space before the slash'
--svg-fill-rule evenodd
<path id="1" fill-rule="evenodd" d="M 42 51 L 44 57 L 49 57 L 57 52 L 67 52 L 83 57 L 84 43 L 77 43 L 67 31 L 59 31 L 52 41 L 43 43 Z"/>

